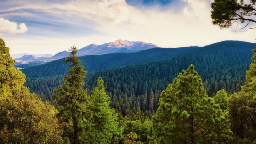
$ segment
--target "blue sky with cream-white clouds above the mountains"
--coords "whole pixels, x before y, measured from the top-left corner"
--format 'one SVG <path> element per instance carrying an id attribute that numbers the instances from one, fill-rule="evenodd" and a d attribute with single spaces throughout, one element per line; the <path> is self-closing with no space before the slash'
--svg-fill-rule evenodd
<path id="1" fill-rule="evenodd" d="M 117 39 L 159 47 L 255 43 L 255 30 L 211 23 L 213 0 L 0 0 L 0 38 L 11 54 L 56 54 Z"/>

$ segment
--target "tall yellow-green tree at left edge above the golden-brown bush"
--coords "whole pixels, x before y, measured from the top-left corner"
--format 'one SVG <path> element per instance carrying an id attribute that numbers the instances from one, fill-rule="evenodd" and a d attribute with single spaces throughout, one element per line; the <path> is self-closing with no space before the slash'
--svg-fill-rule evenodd
<path id="1" fill-rule="evenodd" d="M 5 98 L 11 89 L 21 87 L 25 82 L 25 75 L 13 66 L 14 63 L 9 47 L 0 38 L 0 98 Z"/>

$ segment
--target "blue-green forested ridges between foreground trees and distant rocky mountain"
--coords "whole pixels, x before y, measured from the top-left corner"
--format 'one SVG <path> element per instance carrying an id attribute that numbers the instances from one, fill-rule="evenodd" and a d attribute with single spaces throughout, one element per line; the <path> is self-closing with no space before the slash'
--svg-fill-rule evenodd
<path id="1" fill-rule="evenodd" d="M 251 63 L 251 49 L 254 47 L 255 43 L 222 41 L 188 49 L 153 48 L 137 53 L 89 55 L 79 59 L 89 72 L 85 78 L 88 91 L 96 85 L 97 78 L 102 77 L 107 91 L 117 93 L 121 98 L 124 95 L 138 97 L 146 92 L 149 96 L 151 90 L 164 90 L 179 72 L 194 64 L 207 94 L 211 97 L 221 89 L 229 94 L 240 90 L 245 71 Z M 63 75 L 68 71 L 68 64 L 63 64 L 63 61 L 64 59 L 60 59 L 23 69 L 22 72 L 27 78 L 25 85 L 46 100 L 52 99 L 53 90 L 62 84 Z M 117 101 L 113 100 L 115 105 Z"/>

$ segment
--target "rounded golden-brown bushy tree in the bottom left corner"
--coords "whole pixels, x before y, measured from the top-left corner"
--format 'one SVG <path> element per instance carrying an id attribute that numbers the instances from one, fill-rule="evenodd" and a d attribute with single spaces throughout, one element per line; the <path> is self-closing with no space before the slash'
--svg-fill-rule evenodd
<path id="1" fill-rule="evenodd" d="M 0 99 L 0 143 L 61 143 L 58 111 L 21 87 Z"/>

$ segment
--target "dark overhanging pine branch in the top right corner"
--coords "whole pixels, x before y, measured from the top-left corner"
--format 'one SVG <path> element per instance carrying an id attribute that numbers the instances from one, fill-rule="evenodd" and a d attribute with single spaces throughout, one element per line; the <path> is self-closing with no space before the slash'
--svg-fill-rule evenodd
<path id="1" fill-rule="evenodd" d="M 211 18 L 213 24 L 221 28 L 228 28 L 234 22 L 240 21 L 246 23 L 256 23 L 256 1 L 255 0 L 214 0 L 211 3 Z M 243 27 L 243 28 L 245 28 Z M 250 27 L 249 29 L 255 29 Z"/>

